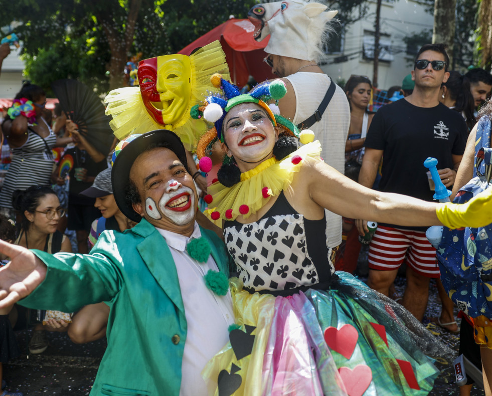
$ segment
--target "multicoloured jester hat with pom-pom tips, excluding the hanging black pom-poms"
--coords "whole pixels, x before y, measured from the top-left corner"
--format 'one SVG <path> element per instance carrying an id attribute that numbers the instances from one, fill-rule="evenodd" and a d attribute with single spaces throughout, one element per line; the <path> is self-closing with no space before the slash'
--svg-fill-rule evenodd
<path id="1" fill-rule="evenodd" d="M 194 106 L 190 112 L 193 118 L 204 117 L 205 120 L 214 124 L 214 127 L 209 129 L 198 141 L 197 156 L 200 159 L 200 170 L 203 172 L 209 172 L 212 168 L 212 161 L 206 156 L 209 147 L 217 140 L 224 142 L 222 133 L 224 117 L 229 110 L 241 103 L 256 103 L 261 106 L 266 111 L 273 126 L 281 127 L 281 136 L 300 139 L 303 144 L 313 140 L 314 133 L 312 131 L 303 130 L 299 132 L 299 129 L 292 122 L 280 115 L 278 100 L 287 93 L 285 83 L 282 80 L 258 84 L 246 94 L 242 94 L 238 87 L 224 80 L 218 73 L 212 75 L 210 81 L 215 87 L 220 88 L 222 93 L 206 97 L 203 105 Z"/>

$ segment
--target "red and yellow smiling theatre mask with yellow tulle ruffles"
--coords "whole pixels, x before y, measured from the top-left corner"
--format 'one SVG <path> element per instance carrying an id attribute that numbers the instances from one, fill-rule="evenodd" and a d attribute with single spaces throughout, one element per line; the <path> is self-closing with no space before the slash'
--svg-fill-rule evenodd
<path id="1" fill-rule="evenodd" d="M 204 92 L 217 91 L 210 82 L 214 73 L 229 78 L 219 41 L 190 56 L 163 55 L 140 61 L 140 87 L 118 88 L 104 99 L 114 135 L 123 140 L 135 133 L 168 129 L 181 138 L 185 148 L 193 150 L 197 133 L 208 125 L 203 119 L 193 119 L 190 109 L 203 99 Z"/>

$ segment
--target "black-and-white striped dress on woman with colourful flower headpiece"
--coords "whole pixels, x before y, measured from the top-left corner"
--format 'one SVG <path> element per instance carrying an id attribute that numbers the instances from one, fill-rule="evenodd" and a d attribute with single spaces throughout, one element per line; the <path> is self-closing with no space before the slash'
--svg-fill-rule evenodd
<path id="1" fill-rule="evenodd" d="M 45 144 L 46 142 L 46 144 Z M 52 149 L 56 136 L 50 134 L 44 139 L 28 129 L 28 138 L 21 147 L 12 148 L 12 162 L 0 191 L 0 207 L 12 208 L 12 193 L 16 189 L 25 190 L 31 185 L 50 185 L 53 172 L 53 156 L 46 145 Z"/>

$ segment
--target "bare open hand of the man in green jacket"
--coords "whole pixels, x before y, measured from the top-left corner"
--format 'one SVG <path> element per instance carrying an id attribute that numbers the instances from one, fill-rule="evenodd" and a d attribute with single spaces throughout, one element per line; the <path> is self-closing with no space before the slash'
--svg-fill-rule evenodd
<path id="1" fill-rule="evenodd" d="M 30 250 L 0 240 L 0 253 L 11 261 L 0 269 L 0 308 L 29 295 L 46 277 L 46 265 Z"/>

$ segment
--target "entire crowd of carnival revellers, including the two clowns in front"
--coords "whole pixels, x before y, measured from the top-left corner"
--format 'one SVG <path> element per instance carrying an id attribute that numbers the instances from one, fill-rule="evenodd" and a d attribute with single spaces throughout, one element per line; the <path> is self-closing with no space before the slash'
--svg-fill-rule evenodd
<path id="1" fill-rule="evenodd" d="M 91 394 L 428 394 L 434 360 L 454 357 L 422 324 L 435 278 L 442 309 L 428 320 L 460 333 L 492 396 L 492 352 L 476 336 L 487 326 L 464 313 L 458 325 L 425 236 L 492 223 L 490 193 L 437 203 L 423 165 L 438 160 L 453 196 L 471 179 L 492 76 L 450 71 L 446 46 L 424 45 L 373 112 L 369 78 L 340 87 L 319 67 L 336 12 L 282 7 L 249 12 L 278 79 L 234 86 L 214 43 L 143 60 L 140 90 L 106 98 L 120 140 L 107 152 L 59 107 L 52 122 L 45 91 L 23 85 L 2 122 L 0 379 L 20 354 L 12 319 L 28 308 L 40 310 L 30 353 L 49 347 L 47 331 L 107 337 Z M 155 105 L 166 67 L 186 82 L 169 111 Z M 368 221 L 365 284 L 354 275 Z"/>

